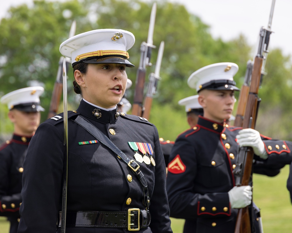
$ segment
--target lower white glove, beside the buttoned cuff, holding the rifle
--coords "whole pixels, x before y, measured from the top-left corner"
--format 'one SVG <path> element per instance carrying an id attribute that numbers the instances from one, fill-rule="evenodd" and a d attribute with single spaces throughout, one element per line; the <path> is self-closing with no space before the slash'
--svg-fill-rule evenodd
<path id="1" fill-rule="evenodd" d="M 251 186 L 234 186 L 228 192 L 231 208 L 241 209 L 250 205 L 252 195 Z"/>

